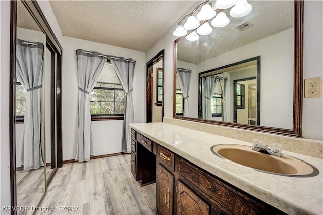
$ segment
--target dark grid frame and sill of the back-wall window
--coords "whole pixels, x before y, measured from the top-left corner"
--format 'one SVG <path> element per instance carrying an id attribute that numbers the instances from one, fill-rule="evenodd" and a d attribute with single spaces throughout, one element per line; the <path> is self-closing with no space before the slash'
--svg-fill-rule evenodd
<path id="1" fill-rule="evenodd" d="M 109 83 L 96 83 L 96 84 L 105 84 L 105 85 L 119 85 L 121 86 L 121 84 L 109 84 Z M 99 89 L 101 90 L 101 97 L 102 97 L 102 90 L 118 90 L 118 91 L 123 91 L 124 90 L 122 88 L 109 88 L 109 87 L 94 87 L 94 89 Z M 125 99 L 127 99 L 127 95 L 125 94 Z M 94 102 L 94 101 L 90 101 Z M 102 103 L 102 101 L 99 101 L 100 103 Z M 115 101 L 114 101 L 115 102 Z M 123 103 L 126 103 L 123 102 Z M 92 121 L 100 121 L 100 120 L 123 120 L 124 119 L 124 114 L 91 114 L 91 120 Z"/>

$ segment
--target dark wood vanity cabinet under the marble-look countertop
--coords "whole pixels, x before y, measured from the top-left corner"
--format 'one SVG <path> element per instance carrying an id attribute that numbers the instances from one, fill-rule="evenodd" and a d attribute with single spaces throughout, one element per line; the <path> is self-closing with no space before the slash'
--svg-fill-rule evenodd
<path id="1" fill-rule="evenodd" d="M 156 181 L 156 214 L 285 214 L 138 132 L 135 135 L 131 172 L 142 186 Z"/>

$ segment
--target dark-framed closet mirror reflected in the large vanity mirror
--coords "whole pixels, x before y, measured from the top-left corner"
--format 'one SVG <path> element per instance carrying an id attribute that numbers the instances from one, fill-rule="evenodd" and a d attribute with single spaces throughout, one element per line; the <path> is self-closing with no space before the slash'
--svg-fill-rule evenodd
<path id="1" fill-rule="evenodd" d="M 260 56 L 199 73 L 199 118 L 260 125 Z"/>

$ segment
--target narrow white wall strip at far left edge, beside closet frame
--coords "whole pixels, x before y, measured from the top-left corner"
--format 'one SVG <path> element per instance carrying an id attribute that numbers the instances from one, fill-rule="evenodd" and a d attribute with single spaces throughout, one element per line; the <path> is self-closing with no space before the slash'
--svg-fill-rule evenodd
<path id="1" fill-rule="evenodd" d="M 0 1 L 0 204 L 10 206 L 9 52 L 10 1 Z M 5 213 L 1 210 L 1 214 Z"/>

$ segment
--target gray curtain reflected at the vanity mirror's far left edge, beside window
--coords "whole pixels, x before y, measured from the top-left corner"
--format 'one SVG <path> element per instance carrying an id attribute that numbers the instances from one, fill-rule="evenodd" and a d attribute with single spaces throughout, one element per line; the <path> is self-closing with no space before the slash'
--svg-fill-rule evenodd
<path id="1" fill-rule="evenodd" d="M 189 98 L 189 88 L 190 88 L 190 80 L 191 80 L 191 70 L 187 70 L 184 68 L 177 68 L 177 77 L 178 83 L 183 93 L 184 97 L 184 117 L 189 117 L 189 105 L 188 105 L 188 98 Z"/>

